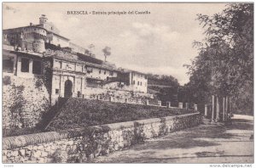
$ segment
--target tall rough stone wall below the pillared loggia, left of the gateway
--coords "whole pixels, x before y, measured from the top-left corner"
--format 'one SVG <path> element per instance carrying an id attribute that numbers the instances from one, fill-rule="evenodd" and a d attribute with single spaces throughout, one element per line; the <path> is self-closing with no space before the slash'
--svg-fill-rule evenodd
<path id="1" fill-rule="evenodd" d="M 39 76 L 3 73 L 3 129 L 34 127 L 49 107 L 49 92 Z"/>

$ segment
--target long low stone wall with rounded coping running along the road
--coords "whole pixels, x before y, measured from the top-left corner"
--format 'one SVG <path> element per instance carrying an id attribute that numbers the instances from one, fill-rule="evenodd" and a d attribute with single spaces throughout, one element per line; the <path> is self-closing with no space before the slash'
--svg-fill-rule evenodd
<path id="1" fill-rule="evenodd" d="M 3 163 L 81 163 L 201 123 L 199 113 L 3 138 Z"/>

